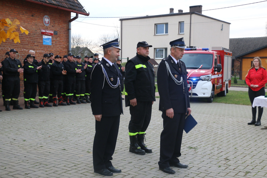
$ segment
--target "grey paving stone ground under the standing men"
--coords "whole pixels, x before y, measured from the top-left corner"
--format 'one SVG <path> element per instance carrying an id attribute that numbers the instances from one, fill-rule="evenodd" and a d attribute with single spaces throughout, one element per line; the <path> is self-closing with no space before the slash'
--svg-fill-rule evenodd
<path id="1" fill-rule="evenodd" d="M 226 96 L 227 97 L 227 96 Z M 266 177 L 266 109 L 262 126 L 249 126 L 251 106 L 192 100 L 197 126 L 184 132 L 180 161 L 168 175 L 158 168 L 161 112 L 154 102 L 146 144 L 153 153 L 129 152 L 129 108 L 121 115 L 113 177 Z M 24 107 L 24 105 L 22 105 Z M 0 113 L 0 177 L 103 177 L 93 172 L 95 119 L 90 104 Z"/>

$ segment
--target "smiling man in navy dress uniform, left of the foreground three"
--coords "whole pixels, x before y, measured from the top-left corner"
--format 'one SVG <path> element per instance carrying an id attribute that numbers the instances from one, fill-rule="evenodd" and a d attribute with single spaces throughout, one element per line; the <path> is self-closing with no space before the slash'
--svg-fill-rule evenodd
<path id="1" fill-rule="evenodd" d="M 113 167 L 111 160 L 115 151 L 120 115 L 123 113 L 121 100 L 121 74 L 113 64 L 120 56 L 118 39 L 103 46 L 104 57 L 95 65 L 91 76 L 92 111 L 96 119 L 93 143 L 94 172 L 112 176 L 121 172 Z"/>

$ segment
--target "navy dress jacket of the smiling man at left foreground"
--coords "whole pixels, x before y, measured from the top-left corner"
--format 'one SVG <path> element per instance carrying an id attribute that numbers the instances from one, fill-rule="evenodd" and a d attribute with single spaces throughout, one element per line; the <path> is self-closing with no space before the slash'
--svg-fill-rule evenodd
<path id="1" fill-rule="evenodd" d="M 100 115 L 102 117 L 118 116 L 123 114 L 121 86 L 116 88 L 109 86 L 107 79 L 102 71 L 103 65 L 107 72 L 108 79 L 112 85 L 117 84 L 117 80 L 122 80 L 122 75 L 119 72 L 119 67 L 114 64 L 116 70 L 104 59 L 97 63 L 91 75 L 91 107 L 93 115 Z"/>

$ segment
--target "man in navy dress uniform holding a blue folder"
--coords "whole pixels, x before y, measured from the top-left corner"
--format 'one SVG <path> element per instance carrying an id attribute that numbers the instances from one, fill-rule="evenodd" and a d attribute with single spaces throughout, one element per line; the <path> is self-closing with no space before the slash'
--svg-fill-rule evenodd
<path id="1" fill-rule="evenodd" d="M 180 163 L 181 143 L 186 114 L 191 114 L 187 71 L 182 59 L 184 39 L 170 42 L 170 55 L 158 66 L 159 110 L 162 111 L 163 131 L 160 135 L 159 169 L 174 174 L 170 166 L 186 168 Z"/>

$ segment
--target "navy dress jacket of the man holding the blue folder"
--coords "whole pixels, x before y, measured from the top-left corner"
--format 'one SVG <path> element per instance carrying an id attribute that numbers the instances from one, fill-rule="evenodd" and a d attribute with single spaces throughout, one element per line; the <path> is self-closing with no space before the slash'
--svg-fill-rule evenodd
<path id="1" fill-rule="evenodd" d="M 166 63 L 168 63 L 171 71 L 171 75 L 178 81 L 181 77 L 183 78 L 183 83 L 178 85 L 171 78 L 170 73 L 166 68 Z M 162 59 L 158 66 L 158 91 L 160 95 L 159 99 L 159 110 L 166 111 L 172 108 L 174 113 L 187 113 L 187 108 L 190 107 L 189 102 L 189 92 L 187 87 L 187 71 L 186 66 L 183 61 L 179 60 L 180 69 L 169 55 L 167 58 Z"/>

